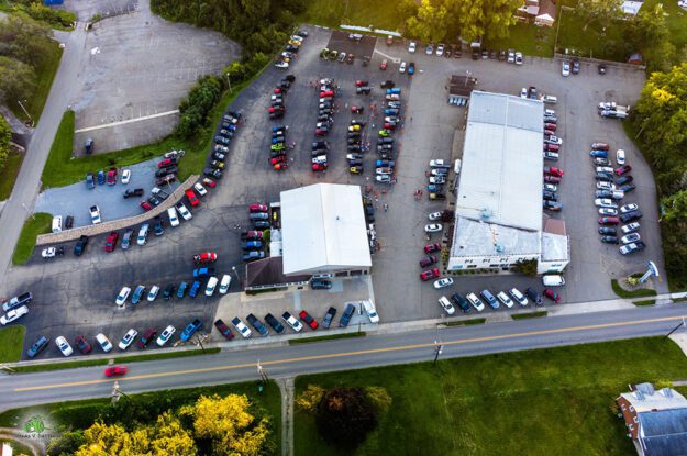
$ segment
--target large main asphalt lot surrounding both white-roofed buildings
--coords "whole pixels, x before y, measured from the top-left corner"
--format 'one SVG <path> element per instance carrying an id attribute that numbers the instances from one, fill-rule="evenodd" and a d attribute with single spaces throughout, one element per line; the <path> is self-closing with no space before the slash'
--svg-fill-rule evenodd
<path id="1" fill-rule="evenodd" d="M 533 85 L 544 93 L 558 97 L 555 109 L 561 119 L 558 132 L 564 140 L 558 165 L 566 171 L 561 189 L 564 204 L 561 215 L 567 223 L 573 255 L 566 274 L 567 285 L 556 290 L 563 297 L 562 302 L 613 298 L 610 278 L 640 270 L 649 258 L 662 268 L 655 190 L 649 167 L 624 137 L 622 125 L 603 121 L 596 113 L 599 99 L 631 104 L 643 82 L 641 73 L 609 68 L 601 77 L 596 74 L 596 68 L 583 65 L 579 76 L 563 78 L 559 65 L 550 59 L 525 58 L 522 67 L 508 68 L 508 64 L 492 60 L 446 59 L 417 54 L 412 60 L 418 65 L 418 74 L 410 80 L 407 75 L 399 74 L 398 65 L 391 62 L 386 71 L 378 69 L 381 58 L 409 60 L 400 44 L 388 47 L 380 41 L 377 51 L 381 49 L 384 55 L 376 52 L 370 65 L 364 68 L 359 60 L 353 65 L 321 60 L 319 52 L 330 43 L 330 33 L 322 29 L 309 30 L 311 36 L 289 71 L 268 68 L 232 104 L 233 111 L 244 113 L 244 122 L 232 141 L 224 177 L 211 190 L 211 198 L 202 201 L 201 209 L 193 212 L 191 222 L 182 222 L 177 229 L 167 226 L 164 236 L 151 236 L 145 247 L 133 246 L 126 252 L 118 249 L 106 254 L 103 236 L 99 236 L 91 240 L 89 252 L 80 258 L 73 257 L 71 246 L 67 246 L 68 254 L 64 258 L 45 263 L 36 258 L 36 253 L 27 266 L 10 270 L 4 283 L 8 294 L 32 290 L 35 296 L 31 313 L 22 322 L 29 330 L 26 346 L 43 334 L 51 338 L 63 334 L 74 340 L 79 332 L 92 336 L 102 331 L 114 341 L 130 327 L 142 331 L 148 326 L 162 329 L 175 324 L 180 331 L 192 318 L 200 318 L 203 329 L 208 330 L 220 302 L 218 297 L 169 302 L 158 298 L 155 303 L 146 302 L 135 310 L 118 310 L 114 297 L 123 285 L 133 288 L 137 283 L 165 285 L 188 280 L 193 267 L 191 256 L 204 251 L 218 252 L 218 275 L 229 274 L 232 266 L 241 271 L 240 233 L 248 227 L 246 205 L 277 201 L 282 190 L 320 181 L 361 185 L 364 190 L 372 188 L 380 243 L 380 251 L 373 256 L 373 283 L 383 322 L 439 318 L 443 313 L 436 299 L 448 290 L 439 292 L 431 282 L 420 282 L 418 260 L 422 257 L 422 246 L 428 243 L 423 233 L 426 214 L 442 210 L 446 204 L 426 199 L 418 201 L 413 192 L 425 187 L 430 159 L 451 156 L 454 132 L 465 109 L 446 103 L 444 86 L 452 74 L 462 75 L 466 70 L 478 78 L 478 88 L 483 90 L 517 93 L 521 87 Z M 296 75 L 296 82 L 285 98 L 287 113 L 282 120 L 272 122 L 267 118 L 269 96 L 287 73 Z M 314 140 L 318 94 L 312 82 L 323 77 L 334 78 L 341 92 L 336 98 L 339 112 L 334 114 L 334 126 L 326 137 L 332 144 L 329 168 L 325 173 L 313 174 L 310 170 L 310 143 Z M 366 79 L 375 87 L 370 96 L 355 94 L 357 79 Z M 352 119 L 350 105 L 367 107 L 363 115 L 355 118 L 366 120 L 366 137 L 375 137 L 380 116 L 370 116 L 373 110 L 369 107 L 381 105 L 379 84 L 387 79 L 402 89 L 405 107 L 405 125 L 395 135 L 398 182 L 391 187 L 373 183 L 375 153 L 365 157 L 365 174 L 362 176 L 351 175 L 345 160 L 346 126 Z M 287 141 L 296 143 L 289 151 L 289 169 L 285 171 L 275 171 L 268 163 L 269 129 L 277 124 L 289 125 Z M 631 200 L 628 198 L 628 202 L 638 202 L 644 212 L 642 237 L 647 240 L 647 248 L 641 254 L 621 257 L 616 246 L 598 242 L 592 169 L 588 157 L 588 147 L 594 141 L 606 141 L 613 149 L 622 147 L 628 152 L 638 185 L 635 194 Z M 375 143 L 376 140 L 372 140 L 372 144 Z M 580 198 L 587 193 L 588 199 Z M 388 212 L 381 210 L 385 203 Z M 432 242 L 439 240 L 439 235 L 431 238 Z M 507 274 L 454 279 L 453 289 L 461 292 L 477 292 L 484 288 L 498 292 L 513 286 L 521 290 L 529 286 L 543 288 L 539 279 Z M 237 286 L 232 287 L 236 287 L 232 291 L 239 290 Z M 163 305 L 165 310 L 159 310 Z M 284 305 L 284 309 L 275 308 L 273 313 L 288 310 L 292 303 Z M 324 309 L 326 301 L 321 305 Z M 320 315 L 315 310 L 311 313 Z M 48 356 L 58 356 L 54 344 Z"/>

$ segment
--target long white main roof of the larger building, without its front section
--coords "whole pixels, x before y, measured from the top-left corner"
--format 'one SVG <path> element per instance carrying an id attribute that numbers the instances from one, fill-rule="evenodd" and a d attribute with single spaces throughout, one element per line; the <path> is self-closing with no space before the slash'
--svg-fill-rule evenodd
<path id="1" fill-rule="evenodd" d="M 473 91 L 457 215 L 541 231 L 543 115 L 539 100 Z"/>

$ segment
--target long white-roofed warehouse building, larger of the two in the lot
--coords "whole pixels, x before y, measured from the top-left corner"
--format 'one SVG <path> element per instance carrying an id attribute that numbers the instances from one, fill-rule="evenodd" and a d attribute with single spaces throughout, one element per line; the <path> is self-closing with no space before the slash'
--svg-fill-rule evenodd
<path id="1" fill-rule="evenodd" d="M 543 114 L 538 100 L 473 91 L 450 270 L 536 259 L 547 273 L 569 263 L 565 223 L 542 209 Z"/>

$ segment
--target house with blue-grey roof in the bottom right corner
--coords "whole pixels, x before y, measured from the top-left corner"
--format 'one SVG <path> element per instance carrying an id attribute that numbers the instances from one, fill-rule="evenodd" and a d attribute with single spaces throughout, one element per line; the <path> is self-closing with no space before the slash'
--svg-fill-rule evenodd
<path id="1" fill-rule="evenodd" d="M 651 383 L 630 387 L 616 403 L 640 456 L 687 454 L 687 399 L 672 388 Z"/>

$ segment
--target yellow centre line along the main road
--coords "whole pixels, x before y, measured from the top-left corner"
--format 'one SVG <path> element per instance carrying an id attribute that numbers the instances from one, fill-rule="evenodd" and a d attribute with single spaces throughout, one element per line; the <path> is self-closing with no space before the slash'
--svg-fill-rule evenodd
<path id="1" fill-rule="evenodd" d="M 555 330 L 530 331 L 527 333 L 491 335 L 491 336 L 483 336 L 483 337 L 462 338 L 457 341 L 442 341 L 442 345 L 444 346 L 462 345 L 462 344 L 503 341 L 508 338 L 529 337 L 529 336 L 538 336 L 538 335 L 546 335 L 546 334 L 574 333 L 574 332 L 581 332 L 581 331 L 589 331 L 589 330 L 602 330 L 602 329 L 609 329 L 609 327 L 622 327 L 622 326 L 632 326 L 632 325 L 640 325 L 640 324 L 668 322 L 668 321 L 683 320 L 685 318 L 687 318 L 687 315 L 662 316 L 658 319 L 634 320 L 634 321 L 628 321 L 628 322 L 600 323 L 600 324 L 589 324 L 589 325 L 584 325 L 584 326 L 558 327 Z M 428 348 L 428 347 L 433 347 L 434 345 L 435 345 L 434 342 L 425 342 L 422 344 L 399 345 L 399 346 L 383 347 L 383 348 L 369 348 L 369 349 L 362 349 L 357 352 L 326 353 L 322 355 L 301 356 L 297 358 L 263 360 L 261 362 L 261 365 L 262 366 L 276 366 L 276 365 L 288 364 L 288 363 L 304 363 L 304 362 L 312 362 L 312 360 L 319 360 L 319 359 L 332 359 L 332 358 L 343 358 L 343 357 L 351 357 L 351 356 L 375 355 L 379 353 Z M 151 378 L 174 377 L 174 376 L 182 376 L 182 375 L 191 375 L 191 374 L 212 372 L 212 371 L 219 371 L 219 370 L 255 368 L 255 366 L 256 366 L 255 363 L 244 363 L 244 364 L 236 364 L 236 365 L 230 365 L 230 366 L 214 366 L 214 367 L 203 367 L 203 368 L 189 369 L 189 370 L 177 370 L 173 372 L 142 374 L 138 376 L 118 378 L 117 380 L 118 381 L 145 380 L 145 379 L 151 379 Z M 70 387 L 79 387 L 79 386 L 85 386 L 85 385 L 109 383 L 112 381 L 114 381 L 114 379 L 70 381 L 66 383 L 54 383 L 54 385 L 42 385 L 42 386 L 35 386 L 35 387 L 14 388 L 14 391 L 22 392 L 22 391 L 37 391 L 37 390 L 45 390 L 45 389 L 70 388 Z"/>

